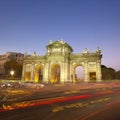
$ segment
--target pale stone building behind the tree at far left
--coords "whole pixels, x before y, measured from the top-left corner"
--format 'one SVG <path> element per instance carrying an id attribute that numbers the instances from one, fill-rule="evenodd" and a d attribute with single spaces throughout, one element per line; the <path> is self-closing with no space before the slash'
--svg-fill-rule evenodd
<path id="1" fill-rule="evenodd" d="M 18 62 L 23 62 L 24 54 L 16 52 L 6 52 L 3 55 L 0 55 L 0 78 L 5 76 L 4 64 L 11 59 L 15 59 Z"/>

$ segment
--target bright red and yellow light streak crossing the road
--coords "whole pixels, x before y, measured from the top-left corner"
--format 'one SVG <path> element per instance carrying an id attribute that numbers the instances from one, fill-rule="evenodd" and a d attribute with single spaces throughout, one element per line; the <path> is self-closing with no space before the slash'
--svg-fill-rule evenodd
<path id="1" fill-rule="evenodd" d="M 92 97 L 92 95 L 86 94 L 86 95 L 80 95 L 80 96 L 57 97 L 57 98 L 50 98 L 50 99 L 43 99 L 43 100 L 32 100 L 32 101 L 14 103 L 11 105 L 3 104 L 2 107 L 0 108 L 0 112 L 15 110 L 15 109 L 23 109 L 27 107 L 33 107 L 33 106 L 48 105 L 48 104 L 71 101 L 71 100 L 76 100 L 76 99 L 86 99 L 90 97 Z"/>

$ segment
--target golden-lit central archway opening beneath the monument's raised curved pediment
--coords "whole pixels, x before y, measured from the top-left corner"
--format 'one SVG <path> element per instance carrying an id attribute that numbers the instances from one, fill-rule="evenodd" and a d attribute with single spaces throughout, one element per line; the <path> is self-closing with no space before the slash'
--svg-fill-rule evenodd
<path id="1" fill-rule="evenodd" d="M 53 64 L 51 67 L 51 83 L 60 83 L 60 65 Z"/>

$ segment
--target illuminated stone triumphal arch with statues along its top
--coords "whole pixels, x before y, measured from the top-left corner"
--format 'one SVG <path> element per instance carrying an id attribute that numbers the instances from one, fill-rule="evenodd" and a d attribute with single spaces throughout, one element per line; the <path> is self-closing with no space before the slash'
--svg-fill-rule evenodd
<path id="1" fill-rule="evenodd" d="M 97 48 L 89 52 L 86 48 L 82 53 L 73 53 L 72 47 L 63 40 L 50 41 L 44 56 L 24 56 L 22 80 L 40 83 L 77 82 L 75 69 L 83 67 L 82 81 L 101 81 L 101 50 Z"/>

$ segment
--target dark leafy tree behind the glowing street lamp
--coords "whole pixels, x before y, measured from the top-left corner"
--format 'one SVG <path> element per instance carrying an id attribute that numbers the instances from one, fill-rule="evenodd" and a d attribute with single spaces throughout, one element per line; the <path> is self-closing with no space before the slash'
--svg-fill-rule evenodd
<path id="1" fill-rule="evenodd" d="M 13 70 L 15 72 L 14 74 L 14 78 L 16 79 L 20 79 L 21 75 L 22 75 L 22 67 L 23 64 L 20 62 L 17 62 L 15 59 L 10 59 L 10 61 L 7 61 L 4 64 L 4 68 L 5 68 L 5 75 L 7 78 L 10 78 L 10 71 Z"/>

